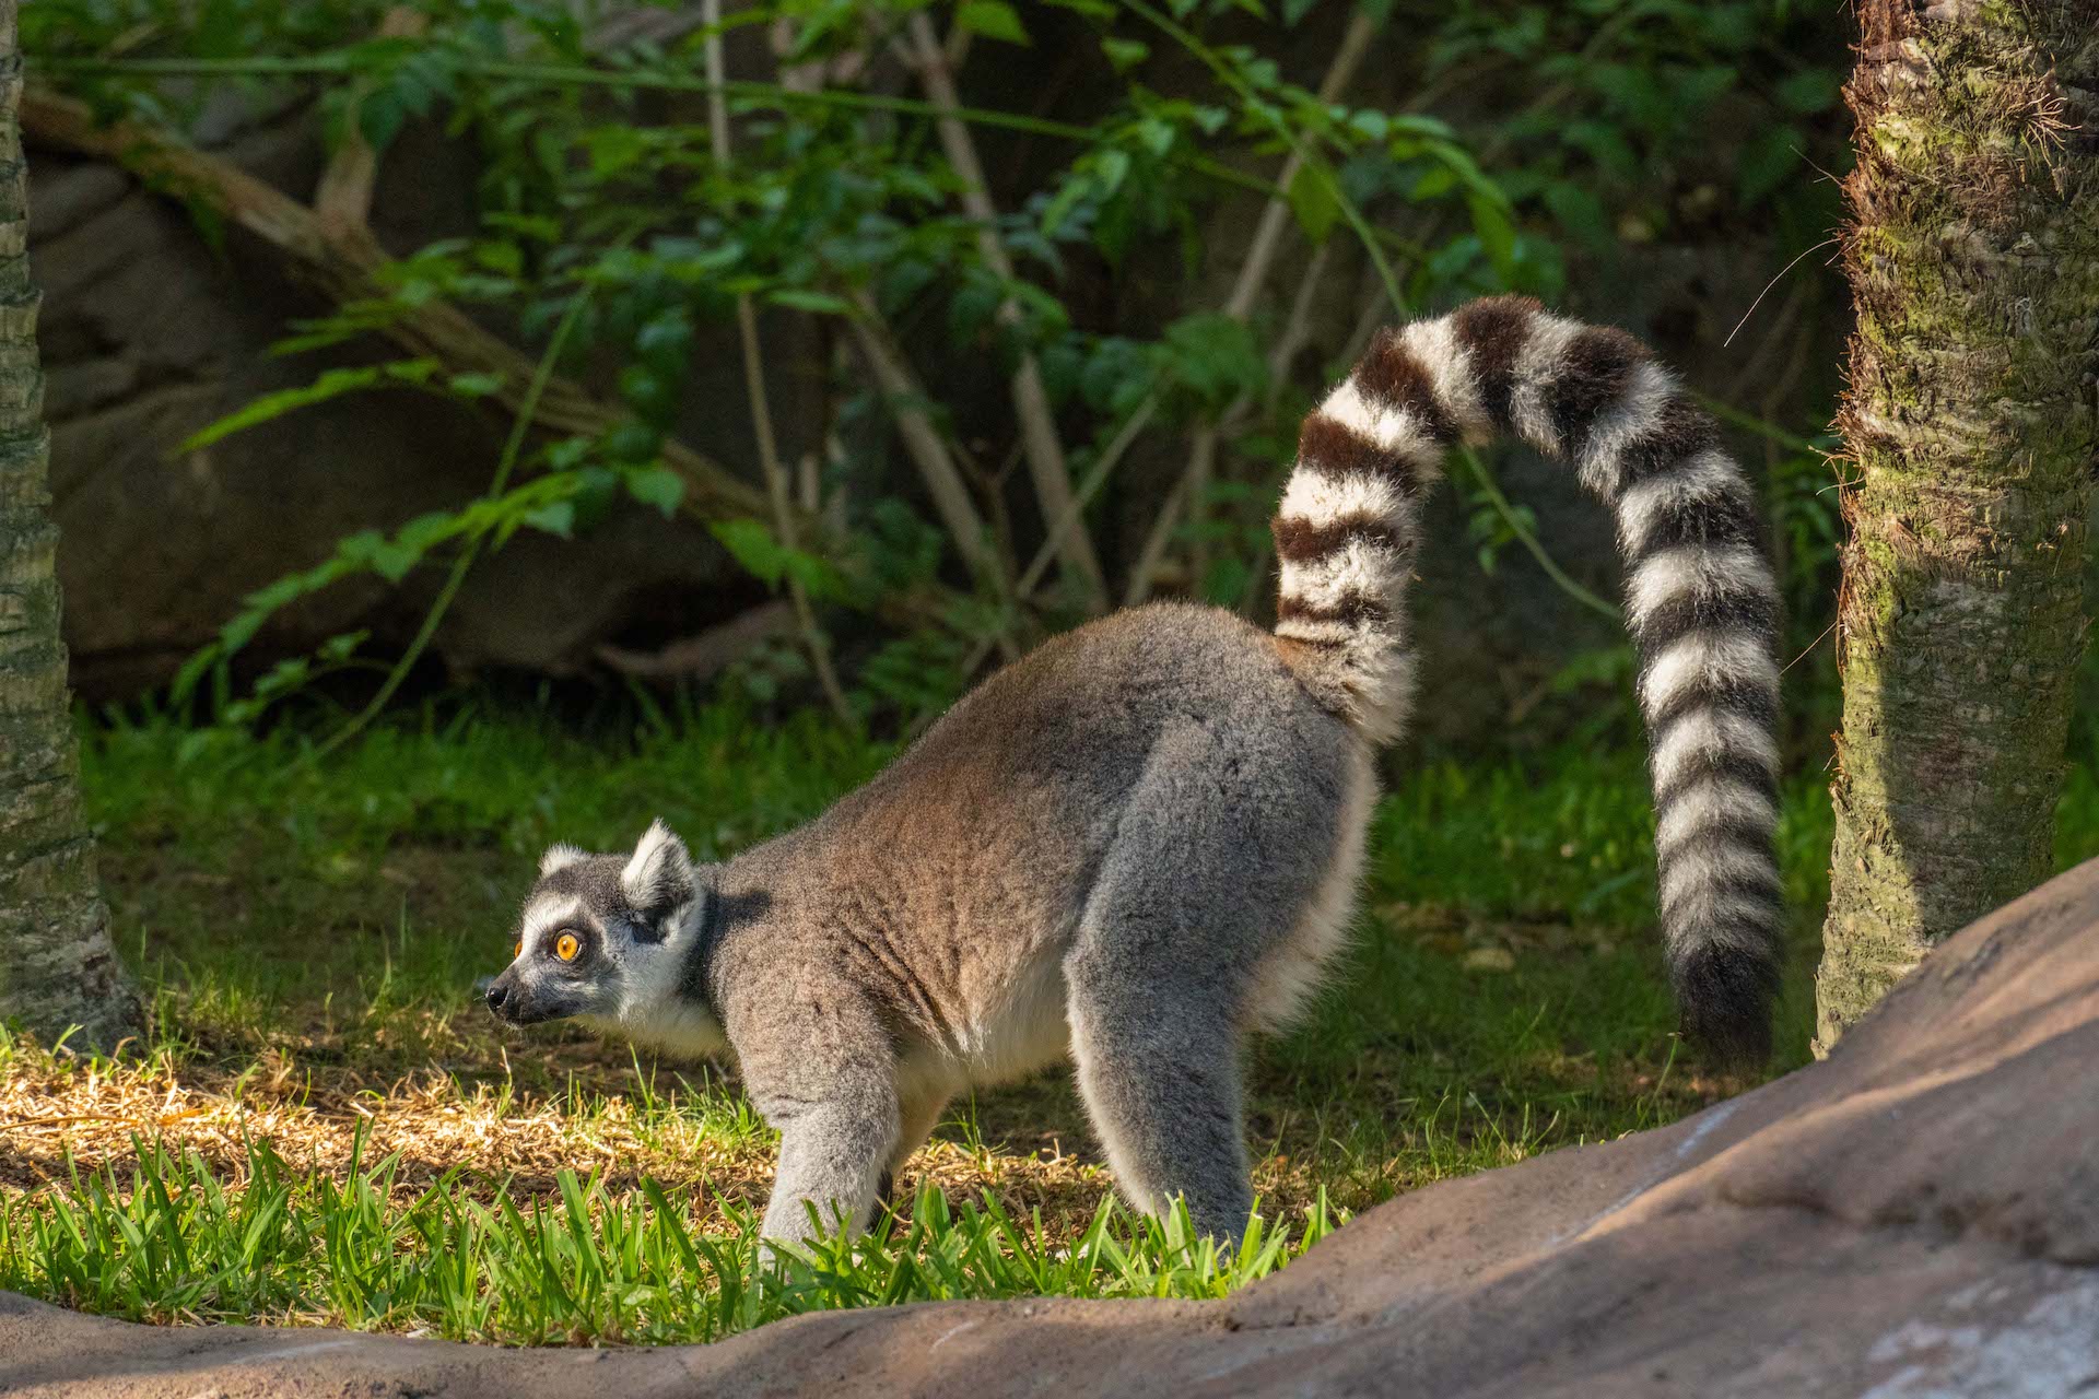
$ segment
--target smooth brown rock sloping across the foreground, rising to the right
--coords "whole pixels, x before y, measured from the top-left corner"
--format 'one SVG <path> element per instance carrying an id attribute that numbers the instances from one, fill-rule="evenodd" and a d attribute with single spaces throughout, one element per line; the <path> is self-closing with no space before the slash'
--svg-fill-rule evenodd
<path id="1" fill-rule="evenodd" d="M 951 1303 L 716 1347 L 151 1330 L 0 1294 L 8 1395 L 2099 1391 L 2099 862 L 1828 1063 L 1394 1200 L 1232 1300 Z"/>

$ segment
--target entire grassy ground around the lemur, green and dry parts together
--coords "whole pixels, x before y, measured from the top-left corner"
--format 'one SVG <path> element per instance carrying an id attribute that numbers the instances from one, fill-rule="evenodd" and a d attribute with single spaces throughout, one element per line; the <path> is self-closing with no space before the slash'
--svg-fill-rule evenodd
<path id="1" fill-rule="evenodd" d="M 709 707 L 613 738 L 512 715 L 304 753 L 292 734 L 88 734 L 155 1030 L 115 1070 L 0 1042 L 0 1116 L 31 1124 L 0 1149 L 0 1286 L 139 1319 L 531 1344 L 942 1296 L 1215 1296 L 1392 1193 L 1742 1086 L 1677 1053 L 1639 753 L 1425 763 L 1377 812 L 1335 988 L 1249 1059 L 1268 1223 L 1238 1258 L 1115 1206 L 1068 1074 L 1047 1074 L 957 1105 L 879 1231 L 768 1271 L 751 1219 L 772 1139 L 733 1078 L 504 1036 L 472 982 L 502 967 L 548 841 L 619 847 L 663 816 L 730 854 L 890 751 Z M 2065 864 L 2099 852 L 2095 770 L 2068 784 Z M 1778 1068 L 1807 1057 L 1828 826 L 1820 776 L 1788 784 Z"/>

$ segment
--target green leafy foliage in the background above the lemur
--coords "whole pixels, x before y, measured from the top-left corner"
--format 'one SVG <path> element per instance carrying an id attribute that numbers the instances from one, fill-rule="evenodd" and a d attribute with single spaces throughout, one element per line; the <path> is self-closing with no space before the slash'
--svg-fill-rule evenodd
<path id="1" fill-rule="evenodd" d="M 395 25 L 374 38 L 388 8 L 411 10 L 422 31 L 403 38 Z M 1217 260 L 1207 239 L 1220 218 L 1236 218 L 1224 210 L 1243 210 L 1249 189 L 1289 210 L 1299 245 L 1339 239 L 1345 256 L 1316 264 L 1333 264 L 1327 279 L 1350 275 L 1350 258 L 1373 262 L 1394 315 L 1499 287 L 1557 296 L 1570 258 L 1625 256 L 1719 218 L 1776 224 L 1782 243 L 1797 243 L 1826 208 L 1816 185 L 1793 176 L 1799 151 L 1830 145 L 1816 122 L 1835 101 L 1841 48 L 1824 65 L 1788 59 L 1774 34 L 1807 23 L 1788 0 L 1469 0 L 1419 13 L 1387 0 L 1364 15 L 1394 36 L 1423 25 L 1432 34 L 1408 50 L 1419 55 L 1417 99 L 1400 109 L 1320 101 L 1308 86 L 1318 69 L 1291 78 L 1274 57 L 1320 59 L 1306 36 L 1335 29 L 1352 13 L 1343 4 L 758 4 L 722 23 L 739 52 L 756 48 L 758 31 L 775 38 L 777 76 L 728 84 L 733 162 L 712 151 L 699 105 L 697 73 L 716 34 L 674 23 L 657 29 L 667 38 L 646 38 L 646 25 L 642 38 L 615 38 L 617 25 L 602 23 L 615 10 L 556 0 L 48 0 L 25 13 L 29 52 L 107 111 L 183 122 L 231 80 L 258 103 L 311 94 L 336 145 L 359 138 L 384 155 L 411 122 L 474 143 L 479 231 L 401 258 L 384 298 L 298 327 L 288 352 L 365 336 L 432 302 L 546 346 L 588 289 L 558 361 L 609 384 L 621 405 L 605 432 L 539 443 L 508 491 L 390 533 L 357 533 L 332 558 L 260 589 L 189 667 L 183 692 L 216 671 L 225 711 L 233 694 L 222 663 L 279 608 L 342 579 L 401 581 L 521 529 L 581 533 L 621 497 L 684 508 L 665 445 L 693 422 L 693 346 L 745 296 L 770 308 L 768 325 L 800 321 L 814 336 L 814 359 L 829 369 L 823 422 L 800 436 L 827 453 L 823 495 L 846 524 L 825 550 L 806 552 L 783 545 L 770 522 L 714 520 L 716 537 L 766 583 L 791 577 L 835 612 L 957 577 L 924 550 L 924 529 L 896 554 L 898 531 L 884 524 L 898 510 L 917 514 L 921 499 L 911 453 L 892 459 L 898 417 L 947 440 L 984 518 L 1014 518 L 1018 505 L 1024 522 L 1018 476 L 993 466 L 1014 438 L 991 424 L 1012 413 L 989 405 L 1033 359 L 1075 472 L 1140 411 L 1157 409 L 1146 436 L 1165 443 L 1226 428 L 1236 451 L 1175 537 L 1209 558 L 1192 587 L 1259 606 L 1261 520 L 1303 392 L 1299 367 L 1268 357 L 1280 308 L 1295 298 L 1278 296 L 1276 310 L 1251 321 L 1203 302 Z M 984 149 L 1029 138 L 1056 151 L 995 191 L 1003 210 L 989 233 L 1003 260 L 987 258 L 987 229 L 959 203 L 961 178 L 936 138 L 942 109 L 917 90 L 909 63 L 886 63 L 924 15 L 949 29 L 953 55 L 991 67 L 974 84 L 987 92 L 1001 90 L 1022 48 L 1054 48 L 1073 55 L 1094 94 L 1081 122 L 1008 107 L 947 113 Z M 1203 76 L 1190 80 L 1188 63 Z M 827 80 L 812 86 L 810 73 Z M 185 86 L 185 76 L 212 82 Z M 1494 94 L 1490 111 L 1467 109 L 1473 92 Z M 1425 109 L 1438 105 L 1453 113 Z M 1746 132 L 1740 145 L 1715 147 L 1721 120 Z M 1287 187 L 1247 174 L 1282 155 L 1295 170 Z M 903 348 L 917 388 L 871 388 L 852 359 L 854 323 Z M 1352 348 L 1322 352 L 1339 363 Z M 399 386 L 464 401 L 502 388 L 445 375 L 426 359 L 323 369 L 309 388 L 248 405 L 199 438 L 323 396 Z M 1138 489 L 1163 495 L 1157 482 L 1110 482 L 1081 529 L 1146 514 Z M 1499 493 L 1471 489 L 1469 501 L 1484 564 L 1532 533 L 1524 508 Z M 945 648 L 966 659 L 984 638 L 1077 615 L 1073 579 L 1035 598 L 1008 596 L 1020 573 L 1016 541 L 1012 526 L 995 533 L 1001 577 L 974 577 L 976 600 L 936 608 L 919 633 L 898 638 L 907 650 L 938 650 L 947 636 Z M 949 560 L 957 543 L 945 543 Z M 1820 617 L 1822 598 L 1816 604 Z M 296 692 L 292 680 L 332 665 L 319 661 L 277 671 L 231 717 L 252 719 Z M 911 703 L 936 705 L 963 680 L 951 675 L 940 694 Z M 898 692 L 863 684 L 861 703 L 879 711 Z"/>

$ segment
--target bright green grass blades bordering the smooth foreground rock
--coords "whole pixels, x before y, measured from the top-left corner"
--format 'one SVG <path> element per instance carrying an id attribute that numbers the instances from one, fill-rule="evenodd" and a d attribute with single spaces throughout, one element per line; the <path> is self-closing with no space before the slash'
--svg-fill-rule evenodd
<path id="1" fill-rule="evenodd" d="M 277 1321 L 416 1330 L 510 1344 L 716 1340 L 804 1311 L 999 1296 L 1209 1298 L 1264 1277 L 1329 1229 L 1255 1229 L 1220 1256 L 1186 1210 L 1131 1219 L 1104 1200 L 1077 1240 L 995 1198 L 949 1208 L 919 1187 L 909 1223 L 762 1256 L 758 1214 L 703 1231 L 659 1183 L 609 1191 L 560 1170 L 552 1198 L 479 1198 L 458 1177 L 401 1202 L 399 1160 L 342 1177 L 267 1143 L 239 1185 L 199 1154 L 141 1143 L 126 1177 L 73 1172 L 0 1208 L 0 1288 L 139 1321 Z"/>

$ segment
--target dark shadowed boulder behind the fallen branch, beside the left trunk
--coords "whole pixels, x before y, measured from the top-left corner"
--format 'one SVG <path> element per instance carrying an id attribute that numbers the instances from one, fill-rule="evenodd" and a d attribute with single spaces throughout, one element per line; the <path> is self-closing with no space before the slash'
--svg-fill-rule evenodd
<path id="1" fill-rule="evenodd" d="M 208 134 L 241 168 L 311 193 L 321 145 L 309 115 L 252 126 L 227 103 L 212 113 Z M 434 128 L 403 132 L 374 216 L 388 247 L 472 227 L 474 172 L 460 151 Z M 260 241 L 227 229 L 214 250 L 178 203 L 107 164 L 31 151 L 29 168 L 59 581 L 73 686 L 86 698 L 124 701 L 166 682 L 243 596 L 321 562 L 344 535 L 395 529 L 487 489 L 508 419 L 414 390 L 336 399 L 178 453 L 197 428 L 260 394 L 393 348 L 271 354 L 292 321 L 327 306 L 290 283 Z M 726 342 L 703 350 L 693 440 L 737 461 L 741 369 Z M 781 386 L 783 422 L 817 417 L 798 394 Z M 787 447 L 798 451 L 802 436 Z M 439 581 L 424 568 L 401 589 L 338 585 L 281 612 L 250 663 L 361 627 L 376 633 L 376 654 L 399 654 Z M 565 673 L 596 665 L 600 644 L 655 646 L 764 598 L 712 535 L 621 501 L 575 541 L 527 531 L 485 558 L 437 654 L 453 671 Z"/>

